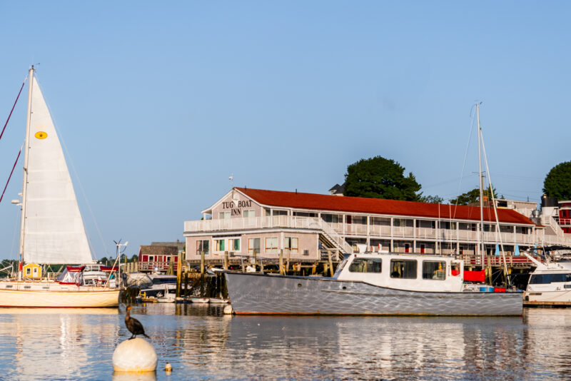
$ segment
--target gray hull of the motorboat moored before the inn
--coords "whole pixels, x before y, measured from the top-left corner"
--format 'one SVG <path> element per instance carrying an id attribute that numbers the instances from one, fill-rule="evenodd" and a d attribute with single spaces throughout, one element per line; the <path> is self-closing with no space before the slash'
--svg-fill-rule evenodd
<path id="1" fill-rule="evenodd" d="M 238 315 L 522 315 L 522 293 L 422 292 L 359 281 L 225 273 Z"/>

